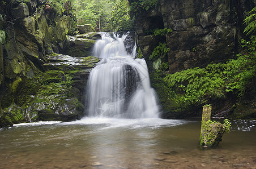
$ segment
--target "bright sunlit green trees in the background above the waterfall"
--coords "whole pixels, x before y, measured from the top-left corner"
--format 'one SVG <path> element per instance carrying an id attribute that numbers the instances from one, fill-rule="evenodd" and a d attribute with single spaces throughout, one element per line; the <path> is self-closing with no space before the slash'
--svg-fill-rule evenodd
<path id="1" fill-rule="evenodd" d="M 79 25 L 92 24 L 105 32 L 133 27 L 127 0 L 73 0 L 72 6 Z"/>

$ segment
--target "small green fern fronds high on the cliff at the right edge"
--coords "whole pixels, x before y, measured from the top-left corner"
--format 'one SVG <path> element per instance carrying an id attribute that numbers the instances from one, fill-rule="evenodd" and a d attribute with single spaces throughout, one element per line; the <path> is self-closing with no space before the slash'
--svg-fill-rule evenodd
<path id="1" fill-rule="evenodd" d="M 248 14 L 249 16 L 246 17 L 244 20 L 244 24 L 247 25 L 244 30 L 244 33 L 246 33 L 246 35 L 256 32 L 256 7 L 248 12 Z"/>

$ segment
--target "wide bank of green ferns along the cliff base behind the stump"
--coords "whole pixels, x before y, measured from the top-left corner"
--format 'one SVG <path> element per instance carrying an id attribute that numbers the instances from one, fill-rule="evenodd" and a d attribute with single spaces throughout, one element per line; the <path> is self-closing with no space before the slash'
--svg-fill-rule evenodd
<path id="1" fill-rule="evenodd" d="M 207 103 L 208 98 L 223 98 L 227 92 L 243 96 L 246 86 L 255 77 L 255 39 L 242 40 L 244 55 L 238 54 L 236 60 L 167 74 L 164 81 L 176 93 L 172 98 L 180 104 L 197 105 Z"/>

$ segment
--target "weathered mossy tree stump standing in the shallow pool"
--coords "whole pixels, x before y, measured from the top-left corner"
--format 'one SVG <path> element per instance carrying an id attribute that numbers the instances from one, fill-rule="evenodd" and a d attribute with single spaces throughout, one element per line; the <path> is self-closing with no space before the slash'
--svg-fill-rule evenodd
<path id="1" fill-rule="evenodd" d="M 216 146 L 225 132 L 225 125 L 211 121 L 211 105 L 203 106 L 202 124 L 200 132 L 200 145 L 203 148 Z"/>

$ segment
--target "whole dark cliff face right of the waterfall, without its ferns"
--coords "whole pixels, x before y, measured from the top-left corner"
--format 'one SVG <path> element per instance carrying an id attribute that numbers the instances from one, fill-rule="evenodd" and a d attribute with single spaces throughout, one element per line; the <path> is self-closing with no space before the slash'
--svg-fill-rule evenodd
<path id="1" fill-rule="evenodd" d="M 130 4 L 136 2 L 129 1 Z M 252 0 L 159 0 L 158 6 L 147 11 L 133 13 L 141 54 L 150 65 L 151 72 L 157 69 L 149 56 L 159 42 L 167 44 L 168 73 L 180 72 L 189 68 L 204 68 L 210 63 L 224 63 L 237 54 L 238 37 L 241 37 L 245 13 L 255 6 Z M 152 30 L 172 29 L 172 33 L 153 35 Z M 166 69 L 167 70 L 167 69 Z M 153 73 L 152 73 L 153 74 Z M 163 75 L 163 74 L 162 74 Z M 158 80 L 156 80 L 158 78 Z M 152 75 L 152 86 L 156 89 L 163 105 L 164 117 L 186 118 L 199 116 L 202 107 L 183 108 L 164 96 L 167 89 L 159 82 L 160 77 Z M 231 112 L 236 97 L 214 100 L 213 115 L 223 116 Z M 220 115 L 221 114 L 221 115 Z"/>

